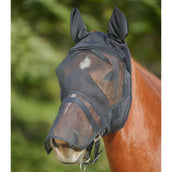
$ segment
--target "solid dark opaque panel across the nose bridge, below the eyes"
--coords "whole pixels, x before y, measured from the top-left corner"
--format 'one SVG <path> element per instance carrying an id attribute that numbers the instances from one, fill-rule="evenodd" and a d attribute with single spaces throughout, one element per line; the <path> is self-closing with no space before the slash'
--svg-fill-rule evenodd
<path id="1" fill-rule="evenodd" d="M 63 80 L 61 88 L 61 99 L 69 93 L 76 93 L 88 101 L 96 110 L 102 121 L 108 125 L 111 122 L 111 107 L 109 102 L 97 86 L 92 77 L 84 70 L 77 68 L 70 72 Z"/>

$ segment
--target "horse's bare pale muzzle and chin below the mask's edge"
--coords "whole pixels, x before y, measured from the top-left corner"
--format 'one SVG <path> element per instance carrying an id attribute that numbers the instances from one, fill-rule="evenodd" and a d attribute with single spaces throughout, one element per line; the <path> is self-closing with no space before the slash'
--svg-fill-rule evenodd
<path id="1" fill-rule="evenodd" d="M 83 160 L 86 153 L 85 149 L 70 147 L 70 144 L 59 139 L 54 139 L 54 141 L 51 139 L 50 143 L 58 161 L 64 164 L 78 164 Z"/>

